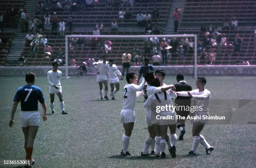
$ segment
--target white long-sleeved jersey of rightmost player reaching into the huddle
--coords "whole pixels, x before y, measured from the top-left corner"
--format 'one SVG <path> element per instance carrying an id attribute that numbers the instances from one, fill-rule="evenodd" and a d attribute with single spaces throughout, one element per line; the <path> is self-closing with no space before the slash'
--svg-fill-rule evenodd
<path id="1" fill-rule="evenodd" d="M 189 92 L 192 94 L 193 98 L 196 99 L 195 106 L 203 106 L 202 111 L 200 112 L 208 112 L 211 92 L 207 89 L 205 89 L 204 91 L 199 91 L 198 89 L 195 89 Z M 189 96 L 187 94 L 187 91 L 179 91 L 178 93 L 179 96 Z"/>

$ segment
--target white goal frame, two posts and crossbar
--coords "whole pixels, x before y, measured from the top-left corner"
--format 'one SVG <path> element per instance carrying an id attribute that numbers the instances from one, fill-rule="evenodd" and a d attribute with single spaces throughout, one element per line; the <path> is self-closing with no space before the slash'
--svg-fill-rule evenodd
<path id="1" fill-rule="evenodd" d="M 182 38 L 182 37 L 193 37 L 194 38 L 194 77 L 197 79 L 197 35 L 65 35 L 65 74 L 66 79 L 68 79 L 68 49 L 69 44 L 68 40 L 69 38 L 151 38 L 151 37 L 157 37 L 157 38 Z"/>

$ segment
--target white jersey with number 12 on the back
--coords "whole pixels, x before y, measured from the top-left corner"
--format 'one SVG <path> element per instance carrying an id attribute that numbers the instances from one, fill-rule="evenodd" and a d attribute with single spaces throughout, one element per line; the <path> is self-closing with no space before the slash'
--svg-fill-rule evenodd
<path id="1" fill-rule="evenodd" d="M 145 80 L 140 85 L 125 84 L 123 87 L 123 109 L 134 110 L 136 104 L 136 91 L 142 91 Z"/>

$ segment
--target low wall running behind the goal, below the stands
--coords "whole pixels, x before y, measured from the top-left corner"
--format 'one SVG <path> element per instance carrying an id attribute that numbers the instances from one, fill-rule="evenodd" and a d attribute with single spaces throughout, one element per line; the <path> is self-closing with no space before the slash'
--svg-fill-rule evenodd
<path id="1" fill-rule="evenodd" d="M 47 72 L 51 70 L 52 67 L 0 67 L 0 77 L 13 77 L 13 76 L 24 76 L 27 72 L 34 72 L 37 76 L 46 76 Z M 122 72 L 122 67 L 118 67 L 120 72 Z M 130 72 L 139 73 L 140 67 L 131 67 Z M 185 75 L 192 75 L 194 66 L 154 66 L 154 69 L 163 69 L 166 75 L 177 75 L 182 73 Z M 59 67 L 62 71 L 62 75 L 65 74 L 65 67 Z M 87 67 L 87 73 L 95 75 L 97 72 L 97 67 Z M 69 76 L 76 76 L 78 74 L 77 67 L 69 67 Z M 252 66 L 198 66 L 198 75 L 231 75 L 231 76 L 256 76 L 256 65 Z"/>

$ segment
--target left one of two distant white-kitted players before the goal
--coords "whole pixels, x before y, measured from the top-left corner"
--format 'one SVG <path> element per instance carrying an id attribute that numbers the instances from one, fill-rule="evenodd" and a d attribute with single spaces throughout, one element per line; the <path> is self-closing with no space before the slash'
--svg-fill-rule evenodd
<path id="1" fill-rule="evenodd" d="M 103 91 L 102 91 L 102 83 L 105 86 L 104 90 L 104 98 L 108 100 L 108 77 L 107 77 L 107 71 L 108 71 L 108 61 L 106 61 L 107 57 L 105 55 L 102 55 L 102 61 L 99 62 L 93 62 L 93 65 L 97 65 L 98 67 L 98 72 L 97 74 L 97 82 L 99 83 L 100 86 L 100 99 L 103 100 Z"/>

